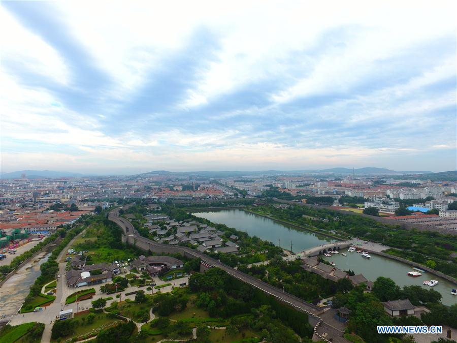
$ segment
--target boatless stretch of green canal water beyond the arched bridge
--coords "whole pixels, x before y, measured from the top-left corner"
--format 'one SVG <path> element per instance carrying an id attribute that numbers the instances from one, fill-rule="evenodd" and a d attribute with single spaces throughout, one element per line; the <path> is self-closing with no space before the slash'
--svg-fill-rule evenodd
<path id="1" fill-rule="evenodd" d="M 230 228 L 244 231 L 249 236 L 257 236 L 273 242 L 287 250 L 301 252 L 313 246 L 335 242 L 335 239 L 318 235 L 310 231 L 299 231 L 292 226 L 283 225 L 266 217 L 245 212 L 239 209 L 217 210 L 192 213 L 213 223 L 225 224 Z"/>

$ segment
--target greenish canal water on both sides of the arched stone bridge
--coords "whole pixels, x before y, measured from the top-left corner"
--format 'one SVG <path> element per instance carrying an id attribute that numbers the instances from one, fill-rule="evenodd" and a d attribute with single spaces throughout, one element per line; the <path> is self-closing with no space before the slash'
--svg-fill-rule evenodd
<path id="1" fill-rule="evenodd" d="M 331 238 L 316 235 L 308 231 L 298 231 L 293 227 L 288 227 L 266 217 L 238 209 L 197 212 L 193 214 L 210 220 L 213 223 L 225 224 L 228 227 L 245 231 L 250 236 L 269 240 L 276 245 L 278 245 L 278 239 L 280 239 L 280 245 L 287 249 L 290 249 L 290 241 L 292 241 L 292 250 L 294 252 L 300 252 L 319 244 L 334 241 Z M 341 252 L 344 251 L 342 250 Z M 442 303 L 445 305 L 457 303 L 457 296 L 450 294 L 451 289 L 456 288 L 456 285 L 441 277 L 431 273 L 422 273 L 422 276 L 411 277 L 407 273 L 413 269 L 409 265 L 399 261 L 374 254 L 371 255 L 370 260 L 364 259 L 357 253 L 346 252 L 346 254 L 347 257 L 341 254 L 334 254 L 327 259 L 333 261 L 339 269 L 351 269 L 356 274 L 362 273 L 367 279 L 372 281 L 376 280 L 378 276 L 390 277 L 400 287 L 419 285 L 422 288 L 430 289 L 431 287 L 422 285 L 422 283 L 425 280 L 437 280 L 439 284 L 433 287 L 433 289 L 441 293 Z"/>

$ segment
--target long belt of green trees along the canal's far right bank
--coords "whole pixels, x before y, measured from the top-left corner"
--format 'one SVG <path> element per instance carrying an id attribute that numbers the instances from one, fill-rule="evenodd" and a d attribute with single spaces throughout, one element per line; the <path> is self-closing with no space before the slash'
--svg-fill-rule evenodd
<path id="1" fill-rule="evenodd" d="M 387 254 L 422 265 L 433 265 L 431 268 L 457 277 L 457 257 L 454 254 L 457 252 L 457 240 L 451 234 L 407 230 L 361 215 L 343 215 L 327 208 L 298 205 L 278 208 L 265 205 L 250 207 L 249 210 L 304 228 L 382 243 L 391 247 L 386 251 Z"/>

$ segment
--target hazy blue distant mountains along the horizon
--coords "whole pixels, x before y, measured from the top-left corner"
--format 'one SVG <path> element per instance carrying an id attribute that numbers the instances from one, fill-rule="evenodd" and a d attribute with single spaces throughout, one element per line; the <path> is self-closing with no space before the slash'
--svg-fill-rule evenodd
<path id="1" fill-rule="evenodd" d="M 299 174 L 335 174 L 335 175 L 402 175 L 402 174 L 422 174 L 420 175 L 421 179 L 434 179 L 438 180 L 441 177 L 445 177 L 447 180 L 457 178 L 457 171 L 446 171 L 440 173 L 433 173 L 431 171 L 395 171 L 386 168 L 375 168 L 375 167 L 365 167 L 365 168 L 330 168 L 330 169 L 309 169 L 309 170 L 262 170 L 262 171 L 189 171 L 189 172 L 170 172 L 167 170 L 156 170 L 148 173 L 143 173 L 139 175 L 176 175 L 176 176 L 201 176 L 201 177 L 214 177 L 214 178 L 223 178 L 223 177 L 241 177 L 247 175 L 299 175 Z M 12 173 L 0 173 L 1 179 L 15 179 L 21 178 L 21 175 L 25 174 L 27 179 L 35 178 L 60 178 L 60 177 L 89 177 L 96 176 L 93 174 L 81 174 L 74 172 L 66 171 L 53 171 L 53 170 L 19 170 Z M 100 175 L 98 175 L 100 176 Z M 449 179 L 450 178 L 450 179 Z M 444 180 L 444 179 L 443 179 Z"/>

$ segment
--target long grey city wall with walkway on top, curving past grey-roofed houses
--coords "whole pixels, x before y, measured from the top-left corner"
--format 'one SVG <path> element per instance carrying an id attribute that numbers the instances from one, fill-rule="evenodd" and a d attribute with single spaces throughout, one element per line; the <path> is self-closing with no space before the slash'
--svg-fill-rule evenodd
<path id="1" fill-rule="evenodd" d="M 205 254 L 202 254 L 198 251 L 195 251 L 191 248 L 184 246 L 171 246 L 168 244 L 157 243 L 153 240 L 140 236 L 137 230 L 134 228 L 132 223 L 128 220 L 119 216 L 119 210 L 122 208 L 127 208 L 127 206 L 119 207 L 108 214 L 108 219 L 116 223 L 123 231 L 122 240 L 128 242 L 129 244 L 136 245 L 144 251 L 150 250 L 155 253 L 168 253 L 168 254 L 181 254 L 189 258 L 200 258 L 202 261 L 206 262 L 210 266 L 218 267 L 225 270 L 228 274 L 233 277 L 264 291 L 265 293 L 274 296 L 277 300 L 286 303 L 287 305 L 303 312 L 308 315 L 308 321 L 311 326 L 314 327 L 314 334 L 316 338 L 323 341 L 333 341 L 333 342 L 347 342 L 343 338 L 343 331 L 339 328 L 336 328 L 329 322 L 324 321 L 319 317 L 323 310 L 309 302 L 304 301 L 303 299 L 296 297 L 295 295 L 284 292 L 274 286 L 271 286 L 262 280 L 259 280 L 253 276 L 245 274 L 237 269 L 234 269 L 230 266 L 227 266 L 220 261 L 213 259 Z"/>

